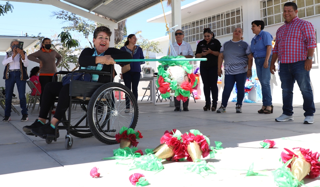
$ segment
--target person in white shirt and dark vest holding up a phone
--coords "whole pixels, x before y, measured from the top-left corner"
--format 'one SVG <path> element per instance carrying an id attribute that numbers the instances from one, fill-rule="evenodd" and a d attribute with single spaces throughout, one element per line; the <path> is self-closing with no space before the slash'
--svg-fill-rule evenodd
<path id="1" fill-rule="evenodd" d="M 27 109 L 27 99 L 26 99 L 26 84 L 28 77 L 27 67 L 29 66 L 29 61 L 27 58 L 27 53 L 23 49 L 19 49 L 19 40 L 14 39 L 10 43 L 10 48 L 12 51 L 8 51 L 2 61 L 4 68 L 5 79 L 5 110 L 3 122 L 8 122 L 11 120 L 11 102 L 14 84 L 17 84 L 20 107 L 22 109 L 21 121 L 28 121 L 28 109 Z"/>

